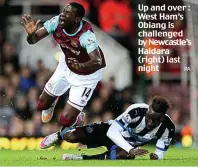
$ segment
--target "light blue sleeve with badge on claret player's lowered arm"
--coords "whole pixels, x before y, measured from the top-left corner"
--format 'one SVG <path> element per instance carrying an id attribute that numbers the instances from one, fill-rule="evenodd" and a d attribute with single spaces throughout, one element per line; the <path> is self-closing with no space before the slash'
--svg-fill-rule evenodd
<path id="1" fill-rule="evenodd" d="M 95 49 L 98 49 L 98 43 L 96 41 L 96 36 L 93 32 L 88 30 L 80 36 L 80 44 L 83 48 L 87 50 L 87 53 L 91 53 Z"/>

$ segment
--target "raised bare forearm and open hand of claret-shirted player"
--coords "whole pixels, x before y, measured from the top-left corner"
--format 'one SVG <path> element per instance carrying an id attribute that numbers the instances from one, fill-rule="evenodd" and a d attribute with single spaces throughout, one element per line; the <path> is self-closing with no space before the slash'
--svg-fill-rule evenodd
<path id="1" fill-rule="evenodd" d="M 40 20 L 35 22 L 30 15 L 24 15 L 22 17 L 21 24 L 28 34 L 27 42 L 29 44 L 35 44 L 49 34 L 44 27 L 39 29 L 39 23 Z"/>

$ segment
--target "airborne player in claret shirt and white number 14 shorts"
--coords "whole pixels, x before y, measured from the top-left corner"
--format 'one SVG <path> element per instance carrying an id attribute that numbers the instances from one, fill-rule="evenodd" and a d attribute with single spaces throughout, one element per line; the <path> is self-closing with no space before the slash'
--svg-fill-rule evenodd
<path id="1" fill-rule="evenodd" d="M 70 88 L 69 99 L 60 114 L 59 123 L 63 127 L 81 125 L 85 116 L 82 110 L 102 79 L 102 71 L 106 66 L 104 55 L 91 25 L 83 20 L 84 15 L 84 7 L 72 2 L 40 29 L 40 20 L 35 22 L 29 15 L 22 17 L 21 23 L 28 34 L 29 44 L 35 44 L 52 34 L 63 51 L 56 71 L 38 100 L 37 108 L 42 111 L 44 123 L 52 119 L 59 96 Z M 48 142 L 47 138 L 41 142 L 41 148 L 46 148 L 45 142 Z"/>

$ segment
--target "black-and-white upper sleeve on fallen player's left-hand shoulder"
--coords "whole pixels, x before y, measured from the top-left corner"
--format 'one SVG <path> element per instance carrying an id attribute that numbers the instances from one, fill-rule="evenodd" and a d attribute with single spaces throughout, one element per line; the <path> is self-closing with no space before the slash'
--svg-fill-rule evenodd
<path id="1" fill-rule="evenodd" d="M 141 118 L 138 110 L 139 107 L 147 108 L 148 105 L 144 103 L 132 104 L 115 121 L 126 130 L 129 124 L 136 123 Z"/>

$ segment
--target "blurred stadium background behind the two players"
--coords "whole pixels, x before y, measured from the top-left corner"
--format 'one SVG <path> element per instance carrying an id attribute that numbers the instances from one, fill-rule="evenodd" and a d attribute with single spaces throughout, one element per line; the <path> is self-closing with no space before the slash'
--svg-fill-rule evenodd
<path id="1" fill-rule="evenodd" d="M 75 1 L 85 6 L 86 18 L 94 25 L 108 65 L 103 81 L 98 84 L 84 110 L 87 114 L 86 123 L 114 119 L 132 103 L 150 103 L 153 96 L 162 95 L 172 103 L 172 110 L 168 114 L 176 124 L 173 142 L 178 147 L 191 146 L 193 136 L 196 144 L 197 1 Z M 19 149 L 13 143 L 19 142 L 21 138 L 25 141 L 30 138 L 31 143 L 59 130 L 58 115 L 68 94 L 60 98 L 54 119 L 49 124 L 42 124 L 41 113 L 36 110 L 36 106 L 38 96 L 57 65 L 60 49 L 51 36 L 35 46 L 29 46 L 20 20 L 21 16 L 27 13 L 35 20 L 41 19 L 44 22 L 59 14 L 68 2 L 69 0 L 0 0 L 0 149 L 10 148 L 12 145 Z M 174 31 L 183 29 L 186 34 L 184 38 L 191 39 L 192 46 L 169 48 L 171 50 L 169 56 L 180 56 L 181 64 L 161 64 L 160 72 L 137 71 L 139 65 L 137 32 L 140 31 L 137 27 L 138 3 L 148 5 L 186 3 L 191 6 L 191 11 L 183 13 L 185 15 L 183 21 L 175 21 Z M 185 66 L 189 66 L 191 72 L 184 72 Z M 12 145 L 9 145 L 10 142 Z"/>

